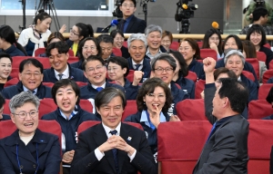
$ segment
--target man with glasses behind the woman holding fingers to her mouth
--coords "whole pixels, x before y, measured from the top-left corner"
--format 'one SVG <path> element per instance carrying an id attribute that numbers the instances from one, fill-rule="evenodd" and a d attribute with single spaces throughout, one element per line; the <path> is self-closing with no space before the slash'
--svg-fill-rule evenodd
<path id="1" fill-rule="evenodd" d="M 187 92 L 184 92 L 179 88 L 178 84 L 172 81 L 177 68 L 176 60 L 168 53 L 159 53 L 154 59 L 152 59 L 151 68 L 151 76 L 162 79 L 162 81 L 166 82 L 167 86 L 170 88 L 173 96 L 173 103 L 167 112 L 170 116 L 173 114 L 176 115 L 177 102 L 190 98 Z"/>

